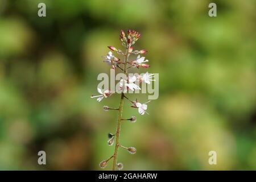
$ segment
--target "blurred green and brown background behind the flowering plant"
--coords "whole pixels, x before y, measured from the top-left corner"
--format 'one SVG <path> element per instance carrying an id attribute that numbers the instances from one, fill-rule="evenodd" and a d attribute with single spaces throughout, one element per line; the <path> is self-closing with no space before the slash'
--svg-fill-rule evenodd
<path id="1" fill-rule="evenodd" d="M 38 17 L 44 2 L 47 16 Z M 208 16 L 210 2 L 217 18 Z M 253 0 L 0 1 L 0 169 L 98 170 L 113 154 L 119 95 L 98 103 L 98 73 L 121 29 L 141 32 L 159 98 L 125 103 L 126 170 L 256 169 L 256 3 Z M 147 101 L 145 94 L 131 95 Z M 38 151 L 47 165 L 38 165 Z M 217 152 L 217 165 L 208 152 Z M 112 162 L 105 169 L 111 169 Z"/>

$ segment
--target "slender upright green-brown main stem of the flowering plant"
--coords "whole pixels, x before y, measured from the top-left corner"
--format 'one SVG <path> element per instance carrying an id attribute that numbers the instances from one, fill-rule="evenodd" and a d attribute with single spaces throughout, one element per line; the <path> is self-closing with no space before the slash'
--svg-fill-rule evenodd
<path id="1" fill-rule="evenodd" d="M 128 61 L 128 57 L 129 57 L 129 53 L 127 51 L 128 49 L 126 49 L 126 53 L 125 53 L 125 63 L 123 66 L 123 74 L 126 75 L 126 65 L 127 65 L 127 61 Z M 123 88 L 125 87 L 125 85 L 123 84 Z M 124 91 L 122 90 L 121 93 L 121 100 L 120 100 L 120 105 L 119 105 L 119 111 L 118 111 L 118 122 L 117 122 L 117 131 L 115 131 L 115 151 L 114 151 L 114 155 L 113 155 L 113 171 L 115 171 L 115 167 L 117 166 L 117 151 L 118 151 L 118 146 L 119 146 L 119 133 L 120 133 L 120 129 L 121 129 L 121 119 L 122 119 L 122 111 L 123 111 L 123 98 L 125 97 L 125 94 L 123 93 Z"/>

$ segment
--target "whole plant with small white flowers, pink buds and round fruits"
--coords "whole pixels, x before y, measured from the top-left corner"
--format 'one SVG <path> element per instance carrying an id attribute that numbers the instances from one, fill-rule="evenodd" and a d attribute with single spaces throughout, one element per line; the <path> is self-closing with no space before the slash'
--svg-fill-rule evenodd
<path id="1" fill-rule="evenodd" d="M 137 108 L 139 114 L 143 115 L 144 113 L 147 113 L 147 103 L 150 101 L 145 102 L 144 104 L 141 104 L 138 100 L 136 101 L 131 101 L 125 93 L 127 90 L 141 90 L 139 85 L 136 84 L 136 82 L 141 83 L 144 82 L 146 84 L 150 84 L 150 81 L 155 81 L 152 78 L 154 78 L 154 74 L 148 74 L 148 72 L 144 73 L 144 75 L 138 75 L 138 76 L 128 76 L 127 70 L 129 68 L 148 68 L 150 67 L 146 62 L 148 60 L 145 60 L 145 57 L 141 57 L 139 54 L 144 54 L 147 51 L 145 49 L 142 49 L 141 51 L 138 50 L 133 50 L 133 47 L 131 47 L 137 40 L 141 37 L 141 34 L 139 34 L 137 31 L 134 30 L 128 30 L 127 31 L 127 36 L 125 35 L 125 32 L 121 30 L 121 35 L 119 36 L 119 39 L 122 42 L 122 45 L 125 47 L 125 52 L 121 51 L 121 49 L 117 49 L 113 46 L 108 46 L 108 48 L 111 50 L 108 55 L 104 57 L 104 62 L 108 63 L 112 69 L 119 68 L 123 72 L 123 77 L 119 81 L 119 90 L 121 91 L 121 100 L 118 108 L 112 108 L 109 106 L 103 106 L 103 109 L 105 111 L 108 110 L 117 110 L 118 111 L 118 122 L 117 122 L 117 130 L 115 131 L 115 134 L 109 133 L 108 137 L 108 144 L 111 146 L 115 143 L 115 150 L 114 154 L 110 156 L 109 159 L 103 160 L 100 163 L 101 168 L 105 168 L 106 165 L 108 164 L 110 159 L 113 159 L 113 170 L 116 168 L 121 170 L 123 168 L 122 163 L 117 163 L 117 152 L 118 148 L 124 148 L 125 150 L 129 151 L 130 154 L 135 154 L 136 153 L 136 148 L 135 147 L 125 147 L 122 146 L 119 143 L 119 135 L 120 135 L 120 129 L 121 129 L 121 122 L 122 121 L 130 121 L 130 122 L 136 122 L 137 118 L 135 116 L 129 118 L 129 119 L 123 119 L 122 118 L 122 110 L 123 110 L 123 101 L 124 99 L 128 100 L 131 102 L 131 107 Z M 116 52 L 119 55 L 122 55 L 124 57 L 124 60 L 122 61 L 118 57 L 115 57 L 113 55 L 113 52 Z M 138 55 L 136 60 L 129 60 L 129 56 L 131 54 Z M 129 66 L 129 67 L 128 67 Z M 101 90 L 100 88 L 98 89 L 98 96 L 91 96 L 91 98 L 97 98 L 97 101 L 100 102 L 103 98 L 108 98 L 115 92 L 114 90 Z M 148 113 L 147 113 L 148 114 Z"/>

